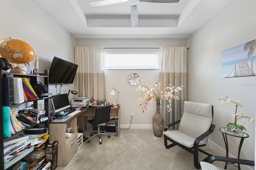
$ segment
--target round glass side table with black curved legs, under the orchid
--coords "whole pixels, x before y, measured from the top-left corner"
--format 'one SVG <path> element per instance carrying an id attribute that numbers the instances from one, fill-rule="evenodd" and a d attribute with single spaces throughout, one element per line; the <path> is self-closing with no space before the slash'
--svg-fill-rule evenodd
<path id="1" fill-rule="evenodd" d="M 225 142 L 225 146 L 226 146 L 226 157 L 228 157 L 228 139 L 227 139 L 227 135 L 241 138 L 239 148 L 238 148 L 238 159 L 239 159 L 241 147 L 242 147 L 242 144 L 244 142 L 244 138 L 248 138 L 249 135 L 247 133 L 243 132 L 243 131 L 241 133 L 235 133 L 235 132 L 228 131 L 227 127 L 221 127 L 220 131 L 222 132 L 224 142 Z M 225 165 L 224 169 L 227 168 L 227 164 L 228 164 L 228 162 L 226 162 L 226 165 Z M 231 164 L 231 163 L 229 163 L 229 164 Z M 240 164 L 238 164 L 238 166 L 236 166 L 236 167 L 238 167 L 238 170 L 240 170 Z"/>

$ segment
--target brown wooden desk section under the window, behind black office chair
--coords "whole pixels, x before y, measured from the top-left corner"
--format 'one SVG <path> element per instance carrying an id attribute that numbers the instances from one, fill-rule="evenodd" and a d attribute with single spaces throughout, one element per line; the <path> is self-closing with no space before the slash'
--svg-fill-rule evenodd
<path id="1" fill-rule="evenodd" d="M 94 116 L 96 111 L 96 107 L 88 107 L 81 110 L 77 117 L 77 125 L 78 127 L 85 130 L 85 123 L 87 121 L 84 120 L 84 117 Z M 118 137 L 120 135 L 120 107 L 110 107 L 110 116 L 118 116 Z"/>

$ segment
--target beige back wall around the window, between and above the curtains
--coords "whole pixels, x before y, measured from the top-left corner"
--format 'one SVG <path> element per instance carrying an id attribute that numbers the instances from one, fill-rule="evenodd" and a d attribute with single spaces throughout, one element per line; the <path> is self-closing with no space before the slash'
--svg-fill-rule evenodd
<path id="1" fill-rule="evenodd" d="M 186 46 L 186 39 L 76 39 L 77 46 L 101 46 L 104 48 L 159 48 L 161 46 Z M 131 114 L 134 113 L 130 128 L 152 128 L 152 116 L 156 111 L 155 101 L 148 104 L 148 109 L 142 113 L 138 98 L 140 92 L 128 83 L 128 76 L 137 73 L 143 84 L 154 86 L 159 81 L 159 70 L 106 70 L 106 101 L 116 102 L 117 96 L 111 96 L 110 90 L 114 86 L 120 92 L 118 103 L 121 110 L 121 128 L 128 128 L 131 123 Z"/>

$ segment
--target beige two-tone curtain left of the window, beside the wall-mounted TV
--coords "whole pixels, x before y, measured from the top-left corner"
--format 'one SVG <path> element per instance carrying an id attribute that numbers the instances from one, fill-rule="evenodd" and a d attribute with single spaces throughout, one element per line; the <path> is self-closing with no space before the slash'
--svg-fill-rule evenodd
<path id="1" fill-rule="evenodd" d="M 89 100 L 105 100 L 104 48 L 76 47 L 75 63 L 78 69 L 74 79 L 74 89 L 80 97 Z"/>

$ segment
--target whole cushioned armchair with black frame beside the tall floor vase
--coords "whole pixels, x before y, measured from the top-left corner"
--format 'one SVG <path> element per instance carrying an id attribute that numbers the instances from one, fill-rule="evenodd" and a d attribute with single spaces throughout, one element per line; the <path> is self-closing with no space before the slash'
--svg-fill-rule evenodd
<path id="1" fill-rule="evenodd" d="M 212 154 L 199 149 L 206 146 L 208 135 L 215 128 L 212 124 L 213 107 L 211 104 L 184 102 L 184 112 L 182 118 L 164 128 L 164 145 L 166 149 L 178 145 L 188 152 L 194 154 L 194 166 L 200 169 L 198 151 L 208 155 L 207 161 Z M 178 130 L 169 130 L 169 127 L 180 123 Z M 168 141 L 172 142 L 168 145 Z"/>

